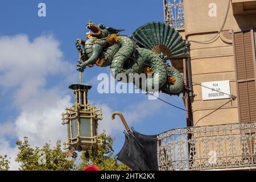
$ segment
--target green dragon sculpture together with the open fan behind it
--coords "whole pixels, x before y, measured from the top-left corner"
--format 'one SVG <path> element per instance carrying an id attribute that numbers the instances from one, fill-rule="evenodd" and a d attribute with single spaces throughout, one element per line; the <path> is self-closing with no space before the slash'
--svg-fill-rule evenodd
<path id="1" fill-rule="evenodd" d="M 144 84 L 154 85 L 157 81 L 158 90 L 146 91 L 162 91 L 170 95 L 184 92 L 183 75 L 167 64 L 167 60 L 186 57 L 188 51 L 181 35 L 168 24 L 144 24 L 130 37 L 120 35 L 123 30 L 105 27 L 102 23 L 97 25 L 90 20 L 86 28 L 90 30 L 86 33 L 86 40 L 76 40 L 80 52 L 77 70 L 80 72 L 94 64 L 110 66 L 112 76 L 118 81 L 122 81 L 116 77 L 119 73 L 127 77 L 126 81 L 134 73 L 151 73 Z M 142 89 L 141 84 L 136 86 Z"/>

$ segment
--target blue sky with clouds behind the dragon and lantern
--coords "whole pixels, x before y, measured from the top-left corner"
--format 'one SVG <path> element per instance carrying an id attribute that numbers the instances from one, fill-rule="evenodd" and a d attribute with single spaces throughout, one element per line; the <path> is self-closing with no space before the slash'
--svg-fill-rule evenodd
<path id="1" fill-rule="evenodd" d="M 38 4 L 40 2 L 46 3 L 46 17 L 38 16 Z M 2 82 L 0 81 L 0 127 L 2 126 L 2 130 L 0 129 L 0 132 L 3 132 L 2 134 L 0 133 L 0 136 L 3 135 L 5 140 L 2 141 L 2 143 L 5 143 L 5 147 L 7 146 L 6 150 L 1 151 L 0 148 L 0 154 L 7 150 L 14 150 L 15 140 L 22 137 L 22 135 L 31 137 L 37 136 L 35 134 L 36 132 L 33 133 L 33 130 L 36 130 L 38 126 L 33 123 L 33 121 L 38 118 L 33 118 L 29 116 L 29 114 L 34 111 L 37 113 L 42 111 L 42 113 L 44 113 L 44 110 L 46 113 L 51 113 L 51 108 L 53 108 L 53 110 L 55 109 L 55 107 L 52 107 L 52 103 L 45 102 L 42 104 L 42 108 L 36 111 L 36 109 L 41 107 L 41 105 L 38 106 L 39 102 L 36 102 L 37 100 L 41 99 L 40 102 L 42 102 L 46 101 L 49 97 L 49 100 L 55 102 L 55 100 L 51 98 L 59 98 L 56 102 L 62 103 L 62 105 L 59 104 L 57 106 L 60 108 L 63 107 L 63 109 L 65 104 L 73 102 L 72 91 L 68 89 L 68 85 L 78 80 L 78 73 L 76 72 L 78 53 L 75 48 L 75 40 L 77 38 L 85 39 L 85 25 L 89 19 L 93 20 L 95 23 L 104 23 L 109 27 L 125 29 L 125 31 L 122 32 L 124 35 L 131 35 L 133 31 L 137 27 L 142 26 L 142 24 L 151 21 L 163 21 L 164 19 L 163 2 L 160 0 L 1 1 L 0 7 L 0 44 L 1 41 L 2 43 L 10 44 L 10 53 L 14 52 L 15 55 L 16 52 L 24 49 L 25 46 L 23 47 L 22 42 L 28 42 L 28 51 L 25 50 L 19 53 L 19 55 L 16 55 L 16 57 L 13 55 L 10 56 L 12 57 L 10 61 L 8 59 L 9 55 L 6 55 L 7 58 L 2 57 L 1 59 L 0 51 L 0 61 L 2 60 L 2 63 L 5 65 L 10 64 L 9 67 L 6 66 L 6 68 L 2 67 L 2 69 L 0 69 L 0 78 L 2 79 Z M 44 44 L 41 44 L 40 41 Z M 3 44 L 3 47 L 5 47 L 5 44 Z M 31 47 L 31 45 L 34 47 Z M 46 46 L 47 50 L 45 54 L 56 49 L 56 55 L 55 53 L 49 53 L 49 55 L 47 55 L 52 56 L 54 59 L 56 58 L 58 60 L 56 64 L 55 61 L 52 61 L 53 59 L 49 57 L 47 63 L 40 64 L 39 67 L 36 65 L 33 66 L 33 64 L 36 64 L 33 63 L 33 61 L 36 61 L 36 57 L 38 57 L 34 52 L 39 48 L 46 48 L 42 45 L 50 45 L 49 47 Z M 53 48 L 51 48 L 51 45 Z M 32 49 L 36 51 L 31 51 Z M 27 59 L 22 59 L 24 56 L 28 56 L 29 53 L 31 53 L 31 56 L 29 56 L 31 57 L 31 63 L 27 63 Z M 35 57 L 34 60 L 33 57 Z M 22 65 L 22 67 L 18 67 L 13 71 L 13 65 Z M 44 72 L 44 69 L 47 71 Z M 7 80 L 7 78 L 10 78 L 9 73 L 11 71 L 16 75 L 14 78 Z M 30 75 L 30 73 L 26 75 L 27 72 L 35 72 L 35 75 Z M 143 134 L 158 134 L 168 129 L 184 127 L 186 125 L 185 111 L 171 107 L 159 100 L 147 100 L 145 94 L 99 94 L 97 92 L 97 84 L 100 81 L 96 79 L 99 73 L 109 74 L 109 68 L 86 68 L 82 80 L 83 82 L 88 82 L 93 85 L 93 88 L 89 92 L 89 101 L 97 106 L 104 106 L 102 109 L 106 108 L 106 110 L 108 110 L 108 113 L 105 111 L 106 114 L 103 115 L 103 122 L 106 120 L 109 121 L 106 121 L 108 126 L 102 126 L 106 126 L 108 129 L 112 127 L 115 128 L 110 132 L 112 137 L 115 137 L 115 153 L 122 147 L 124 140 L 122 130 L 124 130 L 124 128 L 120 129 L 122 125 L 120 125 L 118 129 L 114 126 L 117 122 L 120 122 L 119 119 L 110 122 L 109 114 L 111 111 L 122 111 L 126 114 L 125 118 L 127 118 L 127 123 L 133 126 L 139 133 Z M 38 75 L 40 76 L 38 79 L 41 79 L 40 82 L 36 80 L 36 76 Z M 34 80 L 32 80 L 32 77 L 34 77 Z M 6 82 L 4 82 L 3 79 L 5 79 Z M 26 79 L 28 81 L 26 81 Z M 38 92 L 36 94 L 33 93 L 34 82 L 36 83 L 36 89 L 34 89 L 34 91 Z M 32 97 L 30 97 L 30 92 L 32 93 Z M 160 94 L 160 97 L 172 104 L 184 107 L 181 96 L 170 97 L 166 94 Z M 26 102 L 27 100 L 25 100 L 25 98 L 29 101 Z M 35 102 L 33 101 L 34 98 Z M 56 103 L 53 103 L 53 105 L 54 104 Z M 47 105 L 49 105 L 49 107 L 47 107 Z M 60 112 L 60 110 L 58 111 Z M 58 113 L 58 111 L 53 112 L 53 115 L 56 114 L 56 121 L 52 121 L 56 122 L 55 125 L 45 127 L 57 127 L 56 130 L 61 127 L 64 128 L 64 126 L 61 125 L 60 115 L 59 119 L 57 117 L 58 114 L 61 113 Z M 36 114 L 36 116 L 41 117 L 40 114 Z M 44 116 L 44 118 L 47 117 L 48 116 Z M 30 123 L 27 123 L 26 118 L 33 119 L 29 121 Z M 129 121 L 129 119 L 132 121 Z M 37 123 L 42 122 L 44 121 L 40 120 L 40 122 Z M 23 126 L 33 126 L 34 128 L 26 133 L 27 130 L 25 130 Z M 4 127 L 8 129 L 5 129 L 5 132 L 3 131 Z M 40 130 L 41 129 L 42 132 L 44 132 L 44 126 L 40 126 Z M 8 133 L 7 131 L 10 132 Z M 55 130 L 52 129 L 52 131 Z M 19 134 L 16 135 L 16 132 Z M 33 135 L 31 133 L 33 133 Z M 47 135 L 47 131 L 44 135 Z M 60 133 L 60 135 L 66 138 L 65 132 Z M 58 135 L 58 137 L 60 135 Z M 55 138 L 53 138 L 53 140 L 54 139 Z M 56 137 L 56 139 L 58 138 Z M 33 140 L 35 145 L 47 142 L 42 141 L 40 137 L 35 137 Z"/>

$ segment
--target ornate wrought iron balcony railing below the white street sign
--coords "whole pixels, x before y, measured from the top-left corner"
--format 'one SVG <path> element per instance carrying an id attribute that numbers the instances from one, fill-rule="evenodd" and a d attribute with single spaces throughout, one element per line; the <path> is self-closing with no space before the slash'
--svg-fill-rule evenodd
<path id="1" fill-rule="evenodd" d="M 256 122 L 186 127 L 158 135 L 159 170 L 256 168 Z"/>

